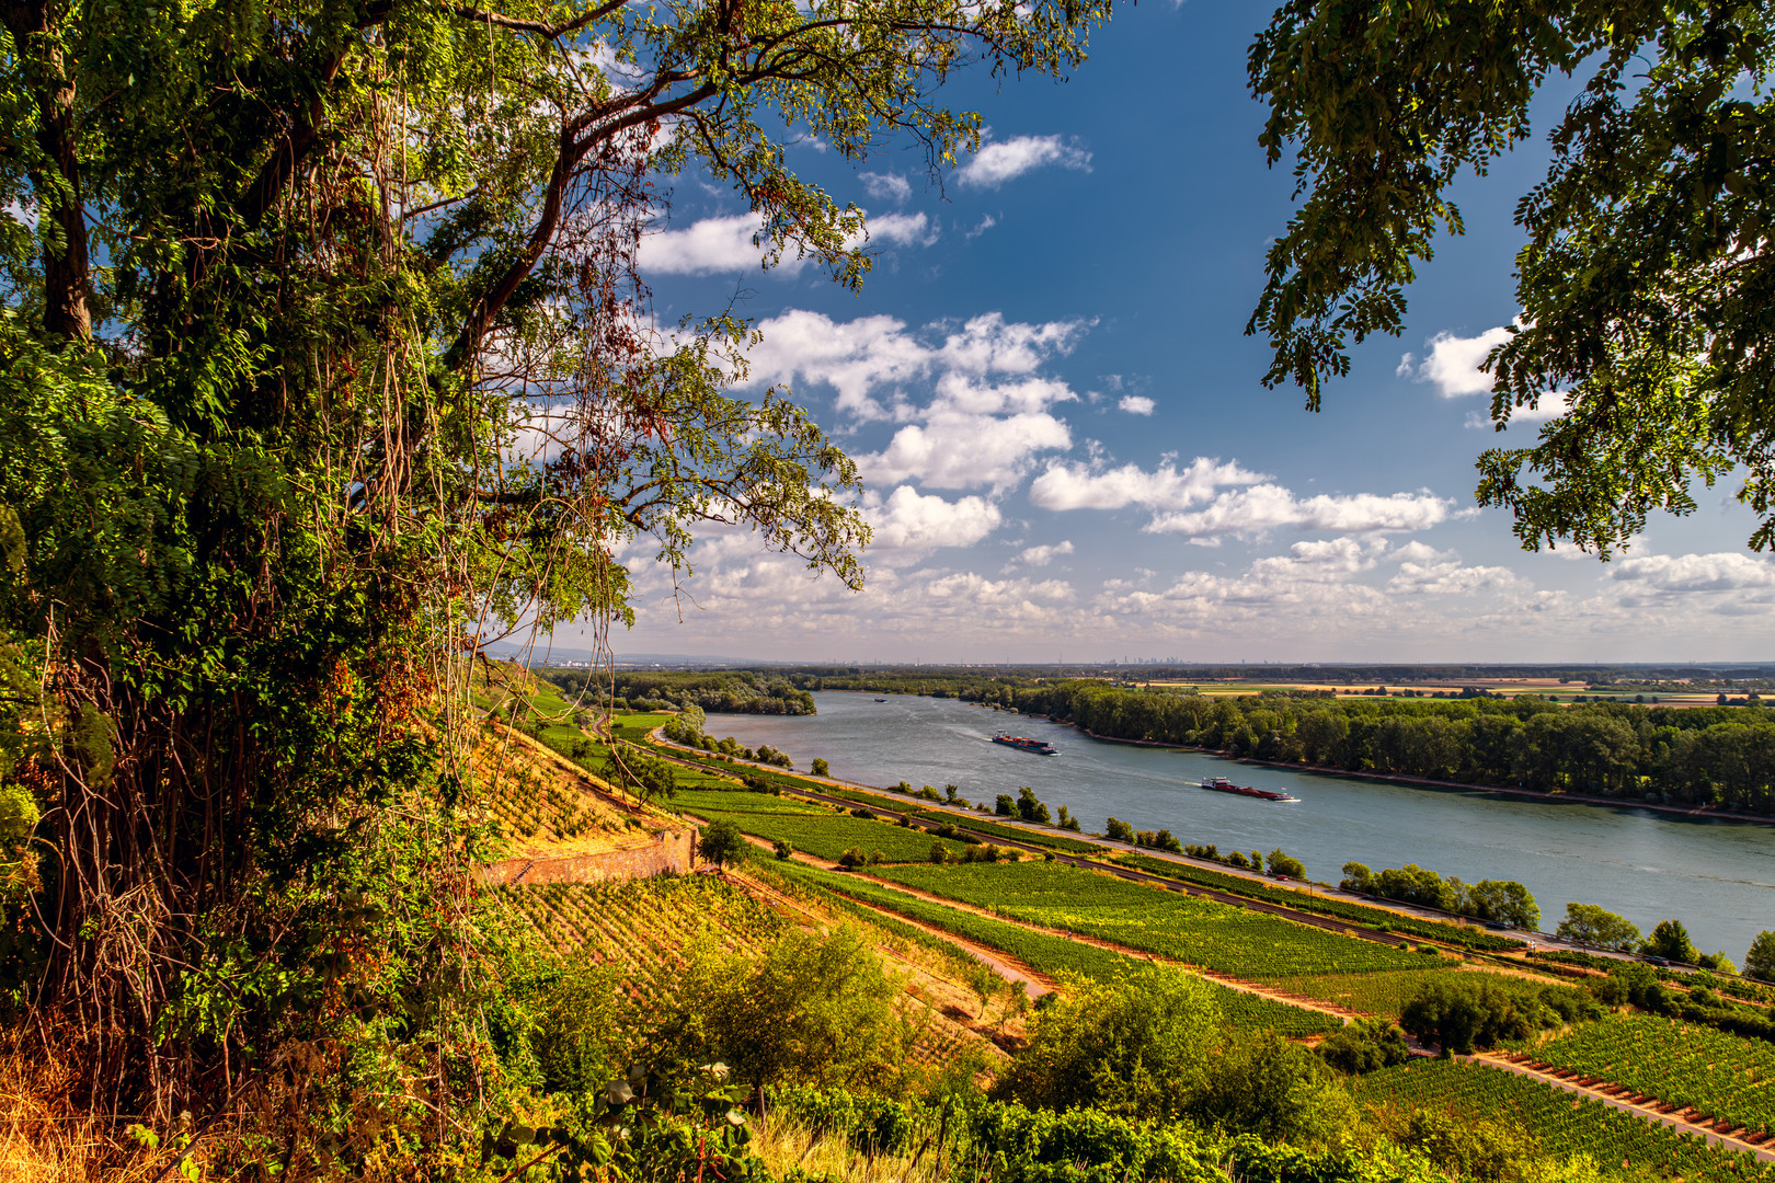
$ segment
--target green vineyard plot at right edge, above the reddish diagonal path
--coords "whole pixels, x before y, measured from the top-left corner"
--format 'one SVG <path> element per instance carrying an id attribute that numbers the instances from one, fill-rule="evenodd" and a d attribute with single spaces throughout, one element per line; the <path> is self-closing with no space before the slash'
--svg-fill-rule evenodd
<path id="1" fill-rule="evenodd" d="M 1542 1064 L 1621 1084 L 1750 1130 L 1775 1130 L 1775 1048 L 1700 1023 L 1621 1015 L 1528 1048 Z"/>

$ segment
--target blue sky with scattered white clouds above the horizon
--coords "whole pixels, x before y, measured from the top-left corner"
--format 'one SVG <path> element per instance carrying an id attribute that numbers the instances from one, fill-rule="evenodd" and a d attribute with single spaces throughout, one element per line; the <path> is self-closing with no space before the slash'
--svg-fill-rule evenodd
<path id="1" fill-rule="evenodd" d="M 1610 564 L 1530 555 L 1473 507 L 1495 436 L 1486 333 L 1516 314 L 1511 209 L 1534 140 L 1459 190 L 1468 234 L 1409 291 L 1400 339 L 1324 410 L 1266 390 L 1242 335 L 1290 176 L 1257 145 L 1244 53 L 1271 5 L 1124 7 L 1067 82 L 976 71 L 982 153 L 941 192 L 914 151 L 793 167 L 868 209 L 861 294 L 763 271 L 744 204 L 682 177 L 643 248 L 662 321 L 735 293 L 786 383 L 868 482 L 877 543 L 850 594 L 710 532 L 673 601 L 650 553 L 618 653 L 779 660 L 1633 662 L 1775 656 L 1775 566 L 1736 482 Z M 1564 105 L 1542 96 L 1544 128 Z M 1512 427 L 1505 440 L 1530 438 Z M 557 644 L 573 646 L 572 630 Z"/>

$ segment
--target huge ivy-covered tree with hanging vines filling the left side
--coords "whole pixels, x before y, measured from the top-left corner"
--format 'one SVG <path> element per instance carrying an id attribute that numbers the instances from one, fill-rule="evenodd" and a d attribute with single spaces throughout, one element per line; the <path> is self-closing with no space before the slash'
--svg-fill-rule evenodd
<path id="1" fill-rule="evenodd" d="M 469 663 L 628 619 L 616 548 L 687 571 L 706 521 L 863 578 L 854 465 L 730 394 L 749 326 L 650 316 L 671 176 L 854 286 L 786 144 L 943 168 L 953 69 L 1061 73 L 1106 14 L 0 5 L 0 654 L 50 725 L 0 743 L 44 851 L 7 988 L 83 1103 L 282 1114 L 295 1162 L 486 1096 Z"/>

